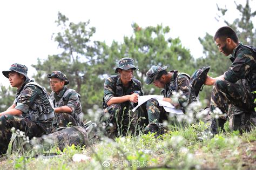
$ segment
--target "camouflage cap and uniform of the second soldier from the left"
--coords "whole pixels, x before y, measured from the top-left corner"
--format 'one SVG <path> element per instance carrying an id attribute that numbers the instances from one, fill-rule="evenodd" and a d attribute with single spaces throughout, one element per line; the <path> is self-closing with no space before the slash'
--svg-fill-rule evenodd
<path id="1" fill-rule="evenodd" d="M 69 80 L 66 78 L 65 74 L 60 71 L 53 71 L 51 74 L 48 74 L 47 77 L 63 80 L 65 81 L 64 85 L 69 84 Z M 50 97 L 55 107 L 69 106 L 72 109 L 72 113 L 56 113 L 56 128 L 65 127 L 69 123 L 73 126 L 83 125 L 83 112 L 80 104 L 80 94 L 75 90 L 64 86 L 59 94 L 51 92 Z"/>

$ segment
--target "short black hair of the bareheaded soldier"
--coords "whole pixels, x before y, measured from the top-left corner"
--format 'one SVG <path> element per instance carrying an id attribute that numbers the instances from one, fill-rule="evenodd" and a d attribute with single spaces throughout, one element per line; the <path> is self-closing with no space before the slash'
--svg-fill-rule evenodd
<path id="1" fill-rule="evenodd" d="M 220 38 L 221 40 L 225 40 L 227 38 L 232 39 L 235 43 L 239 43 L 237 33 L 230 26 L 223 26 L 217 30 L 214 36 L 214 41 Z"/>

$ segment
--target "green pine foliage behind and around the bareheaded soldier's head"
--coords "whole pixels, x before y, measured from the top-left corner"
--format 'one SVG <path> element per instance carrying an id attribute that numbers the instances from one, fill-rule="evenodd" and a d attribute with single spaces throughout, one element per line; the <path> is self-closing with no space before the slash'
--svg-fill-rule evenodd
<path id="1" fill-rule="evenodd" d="M 217 5 L 219 11 L 218 17 L 216 18 L 217 21 L 223 20 L 226 25 L 231 26 L 237 32 L 240 42 L 256 46 L 256 30 L 254 29 L 252 22 L 252 18 L 255 17 L 256 11 L 252 12 L 248 0 L 245 5 L 237 4 L 236 2 L 234 3 L 239 12 L 239 15 L 237 15 L 238 18 L 233 22 L 227 21 L 225 15 L 229 10 L 227 8 L 220 8 Z M 219 52 L 218 47 L 213 40 L 213 36 L 214 35 L 210 35 L 206 32 L 205 37 L 198 38 L 201 45 L 203 45 L 203 53 L 205 56 L 196 59 L 196 65 L 198 68 L 204 65 L 211 66 L 211 70 L 208 73 L 209 76 L 218 77 L 224 74 L 228 67 L 231 66 L 231 62 L 228 57 L 225 57 Z M 200 92 L 200 95 L 202 97 L 201 99 L 208 99 L 210 101 L 211 87 L 206 87 L 203 92 Z"/>

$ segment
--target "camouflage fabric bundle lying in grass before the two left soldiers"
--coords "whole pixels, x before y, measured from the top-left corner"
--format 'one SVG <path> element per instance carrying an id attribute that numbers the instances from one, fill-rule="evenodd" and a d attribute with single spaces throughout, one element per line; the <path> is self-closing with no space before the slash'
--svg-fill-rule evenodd
<path id="1" fill-rule="evenodd" d="M 17 138 L 16 138 L 17 139 Z M 58 147 L 60 151 L 67 146 L 90 146 L 98 140 L 97 126 L 95 123 L 87 122 L 85 127 L 83 126 L 71 126 L 64 128 L 63 130 L 50 133 L 48 135 L 42 135 L 39 138 L 33 138 L 28 143 L 23 145 L 22 149 L 18 140 L 14 141 L 13 151 L 33 151 L 36 153 L 44 153 L 50 150 L 52 147 Z"/>

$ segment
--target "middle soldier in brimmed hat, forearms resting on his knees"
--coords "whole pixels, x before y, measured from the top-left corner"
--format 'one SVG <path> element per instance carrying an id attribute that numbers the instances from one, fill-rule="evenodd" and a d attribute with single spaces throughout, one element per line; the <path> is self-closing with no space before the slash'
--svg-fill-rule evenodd
<path id="1" fill-rule="evenodd" d="M 142 109 L 132 112 L 138 97 L 143 95 L 142 83 L 133 78 L 134 66 L 131 58 L 122 58 L 116 68 L 117 75 L 110 76 L 104 83 L 103 113 L 100 122 L 105 125 L 110 138 L 126 135 L 136 131 L 138 118 L 142 117 Z"/>

